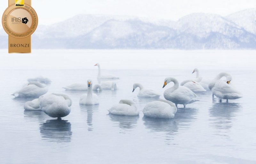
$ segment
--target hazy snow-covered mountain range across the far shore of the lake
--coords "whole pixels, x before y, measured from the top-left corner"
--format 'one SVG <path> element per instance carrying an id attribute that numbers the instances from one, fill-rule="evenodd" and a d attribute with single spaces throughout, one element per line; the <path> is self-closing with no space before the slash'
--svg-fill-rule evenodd
<path id="1" fill-rule="evenodd" d="M 3 29 L 2 38 L 8 38 Z M 7 47 L 1 39 L 0 48 Z M 193 13 L 178 21 L 130 16 L 77 15 L 38 26 L 33 48 L 256 49 L 256 9 L 222 17 Z"/>

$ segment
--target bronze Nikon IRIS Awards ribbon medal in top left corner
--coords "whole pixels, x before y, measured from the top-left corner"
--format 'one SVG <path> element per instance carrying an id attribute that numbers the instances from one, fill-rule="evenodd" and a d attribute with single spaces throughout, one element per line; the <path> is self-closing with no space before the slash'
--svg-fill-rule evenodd
<path id="1" fill-rule="evenodd" d="M 2 24 L 4 31 L 9 35 L 9 53 L 31 53 L 31 35 L 38 24 L 31 0 L 9 0 Z"/>

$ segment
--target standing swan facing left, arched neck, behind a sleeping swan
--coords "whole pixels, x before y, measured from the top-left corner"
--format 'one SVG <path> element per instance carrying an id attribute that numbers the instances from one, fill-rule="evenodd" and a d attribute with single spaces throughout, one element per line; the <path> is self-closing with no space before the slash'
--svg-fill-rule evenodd
<path id="1" fill-rule="evenodd" d="M 173 77 L 167 77 L 164 80 L 163 88 L 170 82 L 173 82 L 174 86 L 164 91 L 164 98 L 175 103 L 176 107 L 178 104 L 183 104 L 184 108 L 186 108 L 188 103 L 199 101 L 194 92 L 187 87 L 179 86 L 179 82 Z"/>

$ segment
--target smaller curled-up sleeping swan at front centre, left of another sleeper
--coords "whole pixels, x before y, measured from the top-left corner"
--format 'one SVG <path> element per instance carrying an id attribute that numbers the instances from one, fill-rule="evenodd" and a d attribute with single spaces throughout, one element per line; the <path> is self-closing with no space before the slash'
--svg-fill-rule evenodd
<path id="1" fill-rule="evenodd" d="M 112 106 L 108 111 L 111 114 L 124 116 L 137 116 L 140 113 L 136 104 L 131 100 L 120 100 L 119 104 Z"/>

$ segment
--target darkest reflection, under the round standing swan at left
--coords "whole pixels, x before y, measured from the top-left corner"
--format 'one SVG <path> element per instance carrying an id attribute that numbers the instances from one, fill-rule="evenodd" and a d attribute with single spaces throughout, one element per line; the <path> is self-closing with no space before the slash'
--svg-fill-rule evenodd
<path id="1" fill-rule="evenodd" d="M 72 137 L 71 123 L 62 119 L 51 119 L 40 124 L 42 138 L 53 142 L 70 142 Z"/>

